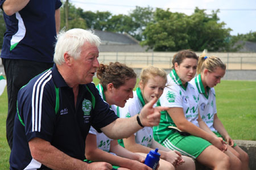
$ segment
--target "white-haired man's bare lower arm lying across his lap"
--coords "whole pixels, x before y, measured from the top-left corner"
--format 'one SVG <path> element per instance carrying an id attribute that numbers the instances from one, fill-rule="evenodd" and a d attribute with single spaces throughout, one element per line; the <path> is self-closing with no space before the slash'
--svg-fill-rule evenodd
<path id="1" fill-rule="evenodd" d="M 51 143 L 40 138 L 31 139 L 31 141 L 28 142 L 28 145 L 30 147 L 32 158 L 51 169 L 112 169 L 112 165 L 108 163 L 99 162 L 88 164 L 79 159 L 72 158 L 52 146 Z"/>

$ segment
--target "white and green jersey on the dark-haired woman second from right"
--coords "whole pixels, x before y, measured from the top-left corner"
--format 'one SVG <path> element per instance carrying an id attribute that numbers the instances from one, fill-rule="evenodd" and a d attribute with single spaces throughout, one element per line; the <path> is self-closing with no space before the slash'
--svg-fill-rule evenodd
<path id="1" fill-rule="evenodd" d="M 184 87 L 175 70 L 167 75 L 166 85 L 167 87 L 164 88 L 164 92 L 159 99 L 160 105 L 170 108 L 183 108 L 185 118 L 199 126 L 197 122 L 199 94 L 195 88 L 189 82 Z"/>

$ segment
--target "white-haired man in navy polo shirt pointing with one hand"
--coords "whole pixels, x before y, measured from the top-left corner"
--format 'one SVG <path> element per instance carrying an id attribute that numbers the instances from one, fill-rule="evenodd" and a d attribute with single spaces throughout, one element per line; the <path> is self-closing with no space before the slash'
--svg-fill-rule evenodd
<path id="1" fill-rule="evenodd" d="M 101 99 L 90 83 L 99 66 L 99 45 L 100 39 L 84 29 L 58 35 L 55 65 L 19 91 L 10 169 L 112 169 L 104 162 L 83 162 L 91 125 L 119 139 L 159 124 L 159 111 L 167 108 L 153 108 L 156 99 L 128 119 L 118 118 Z"/>

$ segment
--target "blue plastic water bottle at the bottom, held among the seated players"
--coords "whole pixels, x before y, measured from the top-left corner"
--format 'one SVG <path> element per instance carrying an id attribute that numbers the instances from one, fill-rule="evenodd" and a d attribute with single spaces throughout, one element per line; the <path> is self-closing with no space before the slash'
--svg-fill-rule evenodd
<path id="1" fill-rule="evenodd" d="M 158 153 L 158 148 L 156 148 L 155 150 L 151 150 L 147 154 L 144 164 L 148 165 L 148 167 L 155 170 L 158 167 L 159 159 L 160 159 L 160 154 Z"/>

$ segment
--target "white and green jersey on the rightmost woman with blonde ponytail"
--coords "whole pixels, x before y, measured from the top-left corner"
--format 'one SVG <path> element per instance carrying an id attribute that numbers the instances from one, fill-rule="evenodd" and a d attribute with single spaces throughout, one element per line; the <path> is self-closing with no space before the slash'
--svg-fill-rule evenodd
<path id="1" fill-rule="evenodd" d="M 213 128 L 214 114 L 217 113 L 214 88 L 207 87 L 207 92 L 205 92 L 200 74 L 191 80 L 191 84 L 199 92 L 199 113 L 202 120 L 210 130 L 217 132 Z"/>

